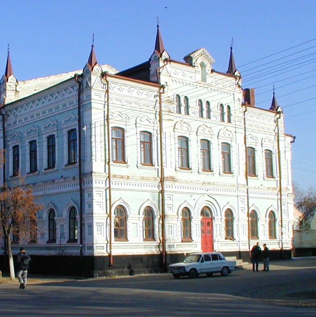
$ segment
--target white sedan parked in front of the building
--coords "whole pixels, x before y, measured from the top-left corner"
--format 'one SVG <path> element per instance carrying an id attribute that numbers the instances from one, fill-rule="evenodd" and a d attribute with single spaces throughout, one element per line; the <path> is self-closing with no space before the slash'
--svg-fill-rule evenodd
<path id="1" fill-rule="evenodd" d="M 236 266 L 236 261 L 228 261 L 220 252 L 200 252 L 189 254 L 183 262 L 169 265 L 170 273 L 174 278 L 188 275 L 196 278 L 200 274 L 208 276 L 220 273 L 223 276 L 231 273 Z"/>

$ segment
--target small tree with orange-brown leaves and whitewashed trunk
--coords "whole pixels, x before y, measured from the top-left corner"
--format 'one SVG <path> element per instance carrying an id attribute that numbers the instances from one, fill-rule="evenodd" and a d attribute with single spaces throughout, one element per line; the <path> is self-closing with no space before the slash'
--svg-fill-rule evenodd
<path id="1" fill-rule="evenodd" d="M 0 192 L 0 234 L 4 237 L 9 256 L 10 278 L 15 279 L 14 264 L 11 250 L 12 240 L 36 240 L 36 213 L 42 205 L 35 202 L 32 190 L 28 186 L 15 185 L 7 187 L 4 184 Z"/>

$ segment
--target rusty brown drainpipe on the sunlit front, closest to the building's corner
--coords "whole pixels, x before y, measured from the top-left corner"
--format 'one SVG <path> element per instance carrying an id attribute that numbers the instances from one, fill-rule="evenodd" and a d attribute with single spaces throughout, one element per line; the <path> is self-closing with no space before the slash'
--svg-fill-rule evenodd
<path id="1" fill-rule="evenodd" d="M 104 73 L 104 80 L 106 81 L 106 96 L 107 96 L 107 134 L 108 134 L 108 215 L 109 215 L 109 253 L 108 253 L 108 266 L 113 265 L 112 255 L 112 192 L 111 192 L 111 135 L 110 135 L 110 98 L 109 98 L 109 83 L 108 72 Z"/>

